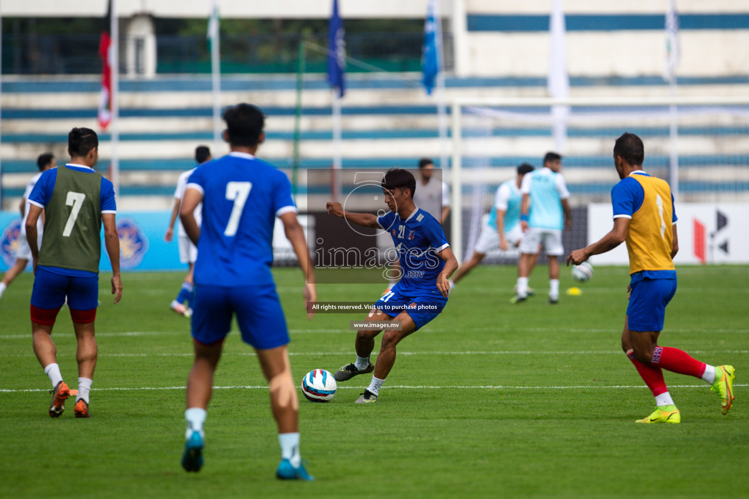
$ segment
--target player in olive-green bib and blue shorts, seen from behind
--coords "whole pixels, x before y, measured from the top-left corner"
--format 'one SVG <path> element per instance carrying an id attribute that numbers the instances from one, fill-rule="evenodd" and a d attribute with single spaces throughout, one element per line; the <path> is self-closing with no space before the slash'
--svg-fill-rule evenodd
<path id="1" fill-rule="evenodd" d="M 91 417 L 89 392 L 97 361 L 94 319 L 99 305 L 100 232 L 112 263 L 112 294 L 122 297 L 120 238 L 115 224 L 117 206 L 112 183 L 94 172 L 99 157 L 99 138 L 88 128 L 74 128 L 67 135 L 70 163 L 44 171 L 28 196 L 26 239 L 34 259 L 31 291 L 31 333 L 34 353 L 52 382 L 49 415 L 59 417 L 70 388 L 57 364 L 52 327 L 65 302 L 70 307 L 78 349 L 76 417 Z M 44 209 L 44 238 L 37 245 L 37 219 Z"/>

